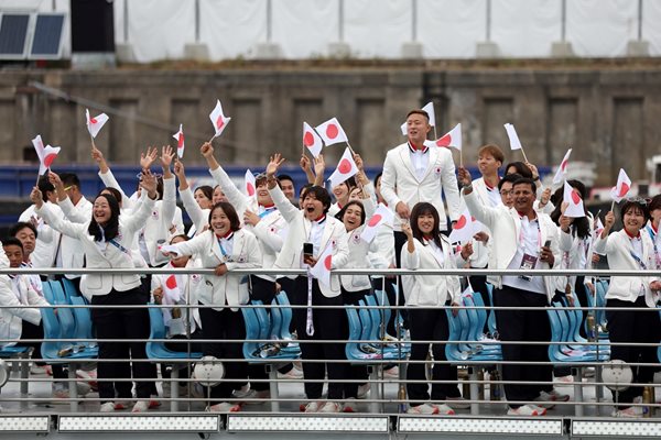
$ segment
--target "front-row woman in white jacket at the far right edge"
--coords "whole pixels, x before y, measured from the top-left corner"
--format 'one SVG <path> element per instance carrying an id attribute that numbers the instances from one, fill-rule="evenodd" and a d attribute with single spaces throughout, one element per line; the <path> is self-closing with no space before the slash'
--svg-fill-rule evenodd
<path id="1" fill-rule="evenodd" d="M 595 243 L 595 252 L 606 254 L 608 266 L 616 271 L 653 271 L 654 254 L 650 237 L 641 233 L 649 213 L 643 199 L 627 200 L 621 207 L 624 229 L 611 233 L 615 215 L 609 211 L 605 218 L 604 231 Z M 632 308 L 633 310 L 607 310 L 608 336 L 611 342 L 619 343 L 610 349 L 610 359 L 625 362 L 657 363 L 657 346 L 638 346 L 637 343 L 659 343 L 660 322 L 654 309 L 659 300 L 661 282 L 653 273 L 639 276 L 611 276 L 606 293 L 606 307 Z M 651 383 L 652 366 L 631 366 L 632 384 Z M 642 396 L 642 386 L 630 386 L 619 392 L 618 417 L 642 417 L 642 408 L 630 406 L 636 397 Z M 615 398 L 615 396 L 614 396 Z"/>

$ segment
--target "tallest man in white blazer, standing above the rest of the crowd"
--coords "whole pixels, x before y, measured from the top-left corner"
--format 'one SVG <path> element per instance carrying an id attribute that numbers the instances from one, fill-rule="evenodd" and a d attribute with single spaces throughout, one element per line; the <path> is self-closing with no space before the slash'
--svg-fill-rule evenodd
<path id="1" fill-rule="evenodd" d="M 427 141 L 430 117 L 424 110 L 411 110 L 407 116 L 408 141 L 390 150 L 383 163 L 381 196 L 400 221 L 395 221 L 394 241 L 397 265 L 400 267 L 401 248 L 407 237 L 400 224 L 409 220 L 411 209 L 419 201 L 429 201 L 436 208 L 441 218 L 438 228 L 446 232 L 445 207 L 441 194 L 445 194 L 447 213 L 452 222 L 460 215 L 459 190 L 455 176 L 452 153 Z"/>

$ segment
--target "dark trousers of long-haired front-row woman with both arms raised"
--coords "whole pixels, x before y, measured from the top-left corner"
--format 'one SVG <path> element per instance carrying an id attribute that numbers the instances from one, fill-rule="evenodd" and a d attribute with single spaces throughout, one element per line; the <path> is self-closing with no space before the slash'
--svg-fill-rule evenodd
<path id="1" fill-rule="evenodd" d="M 94 306 L 133 306 L 143 305 L 144 295 L 140 288 L 127 292 L 111 290 L 108 295 L 91 298 Z M 139 398 L 148 398 L 153 393 L 154 383 L 140 380 L 155 380 L 156 365 L 143 362 L 147 359 L 145 346 L 142 342 L 107 342 L 110 339 L 142 339 L 149 338 L 149 312 L 145 308 L 93 308 L 91 320 L 95 324 L 99 360 L 132 359 L 137 362 L 117 361 L 99 362 L 97 374 L 99 378 L 99 397 L 131 398 L 131 382 L 113 382 L 115 378 L 131 378 L 136 381 L 136 394 Z M 107 381 L 110 380 L 110 381 Z"/>

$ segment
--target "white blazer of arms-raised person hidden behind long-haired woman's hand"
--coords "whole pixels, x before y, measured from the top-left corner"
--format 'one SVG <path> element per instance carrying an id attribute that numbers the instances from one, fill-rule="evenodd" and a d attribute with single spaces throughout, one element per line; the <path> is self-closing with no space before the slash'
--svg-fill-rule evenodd
<path id="1" fill-rule="evenodd" d="M 140 209 L 139 204 L 141 199 L 132 200 L 127 197 L 119 186 L 119 183 L 115 179 L 112 172 L 108 170 L 106 174 L 99 173 L 99 176 L 101 177 L 104 185 L 121 193 L 121 206 L 123 209 L 129 212 Z M 158 266 L 166 262 L 161 252 L 159 252 L 159 245 L 166 243 L 170 238 L 174 235 L 170 232 L 170 228 L 173 224 L 176 230 L 174 234 L 184 233 L 182 210 L 176 206 L 176 186 L 174 176 L 169 179 L 163 179 L 163 199 L 155 202 L 143 224 L 144 228 L 142 228 L 150 265 Z"/>

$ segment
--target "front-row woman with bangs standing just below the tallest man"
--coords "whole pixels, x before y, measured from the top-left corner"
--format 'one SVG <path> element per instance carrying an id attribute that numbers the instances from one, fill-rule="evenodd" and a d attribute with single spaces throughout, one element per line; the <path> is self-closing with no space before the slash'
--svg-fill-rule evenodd
<path id="1" fill-rule="evenodd" d="M 402 232 L 407 235 L 407 245 L 402 248 L 402 268 L 408 270 L 436 270 L 456 268 L 453 248 L 446 237 L 438 232 L 438 211 L 429 202 L 419 202 L 411 210 L 411 220 L 402 223 Z M 470 248 L 465 246 L 462 257 L 469 256 Z M 411 331 L 411 361 L 408 365 L 407 378 L 409 381 L 424 381 L 424 360 L 429 353 L 429 343 L 414 343 L 414 341 L 447 341 L 449 324 L 445 307 L 457 306 L 460 295 L 459 277 L 405 275 L 402 276 L 404 295 L 409 311 L 409 326 Z M 432 344 L 434 363 L 432 371 L 433 381 L 456 381 L 457 367 L 444 363 L 445 344 Z M 456 384 L 433 383 L 430 402 L 429 385 L 409 382 L 407 392 L 411 402 L 410 414 L 445 414 L 452 415 L 454 410 L 447 405 L 454 400 L 459 406 L 462 394 Z"/>

